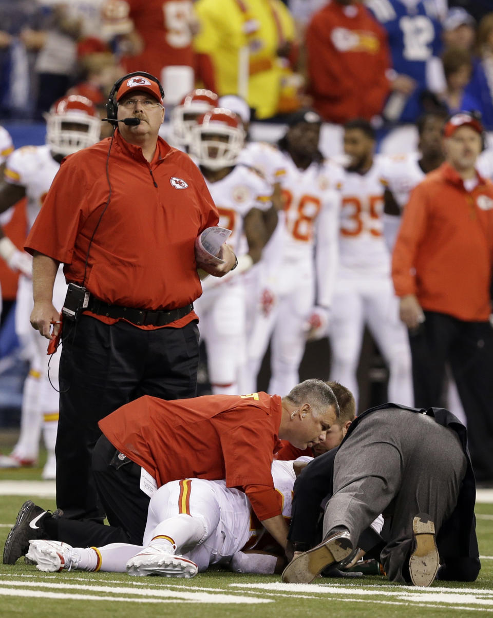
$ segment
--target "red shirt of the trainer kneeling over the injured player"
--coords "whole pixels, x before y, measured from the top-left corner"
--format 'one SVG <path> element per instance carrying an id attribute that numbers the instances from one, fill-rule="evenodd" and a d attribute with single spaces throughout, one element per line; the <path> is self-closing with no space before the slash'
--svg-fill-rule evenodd
<path id="1" fill-rule="evenodd" d="M 242 488 L 260 521 L 280 515 L 270 467 L 280 446 L 281 398 L 265 392 L 165 401 L 144 396 L 98 425 L 158 487 L 183 478 L 225 478 Z"/>

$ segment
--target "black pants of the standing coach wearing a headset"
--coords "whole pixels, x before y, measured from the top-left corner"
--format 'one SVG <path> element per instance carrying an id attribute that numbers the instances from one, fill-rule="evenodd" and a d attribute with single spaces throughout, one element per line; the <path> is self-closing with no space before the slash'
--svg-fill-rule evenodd
<path id="1" fill-rule="evenodd" d="M 91 472 L 101 436 L 98 421 L 143 395 L 195 396 L 199 329 L 144 331 L 124 321 L 104 324 L 83 315 L 64 323 L 60 418 L 56 438 L 56 503 L 71 519 L 102 522 Z"/>

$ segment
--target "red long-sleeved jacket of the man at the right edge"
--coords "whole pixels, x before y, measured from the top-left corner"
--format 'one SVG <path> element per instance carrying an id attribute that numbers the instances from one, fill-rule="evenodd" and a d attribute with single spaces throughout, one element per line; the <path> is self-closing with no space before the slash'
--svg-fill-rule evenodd
<path id="1" fill-rule="evenodd" d="M 392 256 L 398 296 L 416 294 L 424 310 L 487 321 L 493 272 L 493 184 L 478 174 L 467 191 L 443 163 L 417 185 Z"/>

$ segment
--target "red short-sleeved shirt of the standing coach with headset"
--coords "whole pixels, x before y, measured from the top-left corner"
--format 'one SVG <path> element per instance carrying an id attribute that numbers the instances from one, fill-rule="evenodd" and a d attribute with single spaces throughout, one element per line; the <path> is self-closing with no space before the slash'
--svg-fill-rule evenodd
<path id="1" fill-rule="evenodd" d="M 64 159 L 25 242 L 64 264 L 67 282 L 85 286 L 103 302 L 148 310 L 184 307 L 202 294 L 194 243 L 218 212 L 189 156 L 158 138 L 149 163 L 142 149 L 116 130 L 109 138 Z M 115 320 L 97 316 L 99 320 Z M 168 326 L 184 326 L 195 313 Z M 144 329 L 155 328 L 144 326 Z"/>

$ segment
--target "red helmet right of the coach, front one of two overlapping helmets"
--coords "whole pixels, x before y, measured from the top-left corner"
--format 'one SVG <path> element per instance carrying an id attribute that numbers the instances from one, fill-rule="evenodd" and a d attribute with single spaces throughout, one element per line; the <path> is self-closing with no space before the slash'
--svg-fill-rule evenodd
<path id="1" fill-rule="evenodd" d="M 192 128 L 190 152 L 200 165 L 221 169 L 236 163 L 244 140 L 241 118 L 229 109 L 216 108 L 197 119 Z"/>

